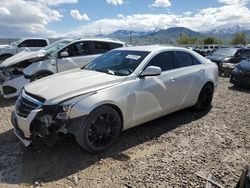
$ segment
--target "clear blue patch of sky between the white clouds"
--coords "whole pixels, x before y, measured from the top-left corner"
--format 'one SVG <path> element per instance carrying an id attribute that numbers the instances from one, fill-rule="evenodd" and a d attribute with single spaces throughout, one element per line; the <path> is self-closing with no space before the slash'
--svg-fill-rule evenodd
<path id="1" fill-rule="evenodd" d="M 71 28 L 77 28 L 79 24 L 84 25 L 82 21 L 76 20 L 70 16 L 70 10 L 78 9 L 81 13 L 86 13 L 90 21 L 97 21 L 102 18 L 116 18 L 118 14 L 182 14 L 184 12 L 201 10 L 207 7 L 218 7 L 220 3 L 216 0 L 173 0 L 171 7 L 150 8 L 154 3 L 153 0 L 132 0 L 126 1 L 121 6 L 112 6 L 105 0 L 80 0 L 76 4 L 61 4 L 57 8 L 61 9 L 64 14 L 63 22 L 51 23 L 49 28 L 53 30 L 68 31 Z"/>

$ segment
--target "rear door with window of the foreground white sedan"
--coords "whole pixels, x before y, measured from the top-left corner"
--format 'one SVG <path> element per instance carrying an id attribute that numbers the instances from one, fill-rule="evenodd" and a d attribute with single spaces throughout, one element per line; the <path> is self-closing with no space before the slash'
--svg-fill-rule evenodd
<path id="1" fill-rule="evenodd" d="M 177 86 L 176 110 L 193 105 L 203 84 L 204 65 L 188 52 L 175 51 L 176 69 L 172 82 Z"/>

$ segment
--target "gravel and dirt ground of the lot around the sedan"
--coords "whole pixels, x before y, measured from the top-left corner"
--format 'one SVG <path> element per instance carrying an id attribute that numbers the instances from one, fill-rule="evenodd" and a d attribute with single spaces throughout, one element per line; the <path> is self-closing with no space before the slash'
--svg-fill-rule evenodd
<path id="1" fill-rule="evenodd" d="M 213 108 L 190 109 L 124 132 L 104 153 L 65 138 L 25 149 L 13 135 L 14 101 L 0 99 L 0 187 L 235 187 L 250 164 L 250 90 L 220 78 Z"/>

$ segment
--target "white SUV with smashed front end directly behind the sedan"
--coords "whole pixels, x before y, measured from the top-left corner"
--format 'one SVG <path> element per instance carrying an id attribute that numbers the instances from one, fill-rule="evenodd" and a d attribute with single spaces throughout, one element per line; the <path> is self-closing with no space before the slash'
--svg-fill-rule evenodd
<path id="1" fill-rule="evenodd" d="M 0 93 L 19 95 L 22 88 L 43 77 L 79 68 L 102 53 L 125 46 L 115 39 L 63 39 L 37 52 L 22 52 L 0 65 Z"/>

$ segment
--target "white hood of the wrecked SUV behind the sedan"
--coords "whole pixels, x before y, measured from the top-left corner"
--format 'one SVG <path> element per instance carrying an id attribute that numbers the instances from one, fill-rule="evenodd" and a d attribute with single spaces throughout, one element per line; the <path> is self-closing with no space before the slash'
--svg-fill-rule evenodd
<path id="1" fill-rule="evenodd" d="M 37 58 L 37 57 L 44 57 L 46 55 L 45 51 L 39 50 L 35 52 L 27 52 L 27 51 L 22 51 L 8 59 L 6 59 L 0 66 L 1 67 L 9 67 L 12 65 L 15 65 L 19 62 Z"/>

